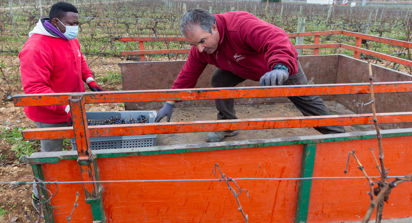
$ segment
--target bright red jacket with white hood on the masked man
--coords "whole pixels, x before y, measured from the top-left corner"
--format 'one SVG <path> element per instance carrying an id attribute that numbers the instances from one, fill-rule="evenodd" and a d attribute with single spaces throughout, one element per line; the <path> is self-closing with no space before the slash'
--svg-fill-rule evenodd
<path id="1" fill-rule="evenodd" d="M 24 93 L 84 92 L 84 82 L 92 73 L 80 51 L 79 41 L 50 34 L 41 20 L 19 53 Z M 37 122 L 66 122 L 66 106 L 26 106 L 24 112 Z"/>

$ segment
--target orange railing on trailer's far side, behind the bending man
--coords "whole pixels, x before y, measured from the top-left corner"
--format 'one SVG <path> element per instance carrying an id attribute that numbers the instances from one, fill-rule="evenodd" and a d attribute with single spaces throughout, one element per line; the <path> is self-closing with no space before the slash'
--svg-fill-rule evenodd
<path id="1" fill-rule="evenodd" d="M 355 46 L 341 44 L 341 43 L 331 43 L 331 44 L 319 44 L 319 39 L 321 35 L 347 35 L 351 37 L 355 37 Z M 295 45 L 297 49 L 314 49 L 314 55 L 319 54 L 319 48 L 337 48 L 342 47 L 344 49 L 349 49 L 354 51 L 354 58 L 359 59 L 359 55 L 361 53 L 379 57 L 381 59 L 385 59 L 387 61 L 403 64 L 405 66 L 411 66 L 411 63 L 407 63 L 403 59 L 399 59 L 395 56 L 389 56 L 386 54 L 370 51 L 367 49 L 361 48 L 362 39 L 371 40 L 375 42 L 382 42 L 390 45 L 401 46 L 405 48 L 412 48 L 412 42 L 406 42 L 402 40 L 395 40 L 390 38 L 383 38 L 374 35 L 367 35 L 363 33 L 355 33 L 350 31 L 344 30 L 332 30 L 332 31 L 315 31 L 315 32 L 304 32 L 304 33 L 288 33 L 289 38 L 293 37 L 302 37 L 302 36 L 314 36 L 314 44 L 309 45 Z M 139 42 L 139 50 L 137 51 L 123 51 L 120 52 L 120 55 L 140 55 L 141 61 L 145 61 L 144 55 L 152 55 L 152 54 L 176 54 L 176 53 L 188 53 L 190 49 L 164 49 L 164 50 L 144 50 L 144 42 L 145 41 L 185 41 L 184 37 L 119 37 L 119 41 L 137 41 Z"/>

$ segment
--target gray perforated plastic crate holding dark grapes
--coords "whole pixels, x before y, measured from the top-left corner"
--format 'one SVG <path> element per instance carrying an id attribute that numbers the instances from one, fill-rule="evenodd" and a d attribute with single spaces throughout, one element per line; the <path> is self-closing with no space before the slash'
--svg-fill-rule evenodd
<path id="1" fill-rule="evenodd" d="M 98 124 L 109 120 L 111 117 L 123 117 L 126 120 L 135 119 L 139 115 L 149 117 L 149 122 L 155 122 L 157 115 L 156 111 L 99 111 L 86 112 L 87 122 Z M 133 135 L 133 136 L 105 136 L 105 137 L 90 137 L 90 148 L 92 150 L 112 149 L 112 148 L 134 148 L 156 146 L 157 134 L 150 135 Z M 77 150 L 76 141 L 70 139 L 73 150 Z"/>

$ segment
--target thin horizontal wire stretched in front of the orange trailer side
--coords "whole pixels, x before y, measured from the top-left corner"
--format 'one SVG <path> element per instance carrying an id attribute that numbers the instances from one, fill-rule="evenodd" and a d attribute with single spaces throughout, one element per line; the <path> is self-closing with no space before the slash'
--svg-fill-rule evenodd
<path id="1" fill-rule="evenodd" d="M 370 178 L 380 178 L 381 176 L 371 176 Z M 388 176 L 387 178 L 402 178 L 405 176 Z M 365 176 L 318 176 L 318 177 L 299 177 L 299 178 L 232 178 L 232 180 L 254 180 L 254 181 L 295 181 L 295 180 L 314 180 L 314 179 L 359 179 Z M 144 182 L 179 182 L 179 181 L 219 181 L 218 179 L 171 179 L 171 180 L 117 180 L 117 181 L 12 181 L 0 182 L 0 184 L 24 185 L 33 183 L 144 183 Z"/>

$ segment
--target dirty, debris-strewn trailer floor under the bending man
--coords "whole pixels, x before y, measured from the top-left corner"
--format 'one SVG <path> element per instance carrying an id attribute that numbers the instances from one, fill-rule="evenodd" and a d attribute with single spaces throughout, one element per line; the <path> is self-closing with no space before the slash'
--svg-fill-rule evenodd
<path id="1" fill-rule="evenodd" d="M 335 101 L 325 101 L 332 115 L 354 114 Z M 236 116 L 242 118 L 269 118 L 269 117 L 294 117 L 302 116 L 292 103 L 276 104 L 251 104 L 235 105 Z M 218 110 L 215 106 L 174 108 L 171 122 L 216 120 Z M 161 122 L 166 122 L 166 117 Z M 347 132 L 375 130 L 371 124 L 345 126 Z M 157 146 L 205 143 L 207 132 L 159 134 Z M 259 129 L 241 130 L 236 136 L 225 137 L 223 141 L 250 140 L 262 138 L 279 138 L 287 136 L 308 136 L 321 134 L 313 128 L 288 128 L 288 129 Z"/>

